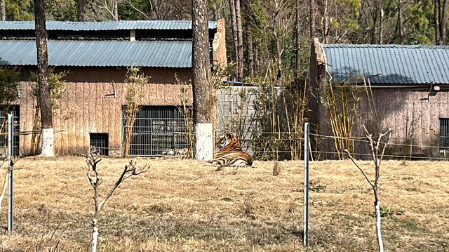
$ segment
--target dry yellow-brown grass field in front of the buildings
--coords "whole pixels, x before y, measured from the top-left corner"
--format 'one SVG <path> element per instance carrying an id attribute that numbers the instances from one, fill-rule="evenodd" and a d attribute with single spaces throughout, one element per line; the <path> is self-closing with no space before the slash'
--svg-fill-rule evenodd
<path id="1" fill-rule="evenodd" d="M 214 171 L 199 161 L 137 160 L 151 168 L 124 181 L 107 202 L 99 220 L 99 251 L 377 249 L 374 197 L 350 161 L 311 162 L 310 246 L 304 250 L 302 162 L 279 162 L 274 176 L 272 161 Z M 102 195 L 127 162 L 100 162 Z M 372 176 L 370 162 L 361 164 Z M 386 251 L 449 251 L 448 171 L 448 162 L 384 161 Z M 56 244 L 59 251 L 88 251 L 94 210 L 84 159 L 27 157 L 18 161 L 14 175 L 15 230 L 6 232 L 5 200 L 0 251 L 49 251 Z"/>

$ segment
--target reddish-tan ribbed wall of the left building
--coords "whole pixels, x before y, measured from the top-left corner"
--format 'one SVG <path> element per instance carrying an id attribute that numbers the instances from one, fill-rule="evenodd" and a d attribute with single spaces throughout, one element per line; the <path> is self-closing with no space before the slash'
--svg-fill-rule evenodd
<path id="1" fill-rule="evenodd" d="M 20 154 L 29 154 L 36 101 L 30 95 L 32 84 L 20 83 Z M 116 98 L 114 97 L 114 86 Z M 181 105 L 181 86 L 176 84 L 145 84 L 141 105 Z M 55 112 L 55 152 L 86 153 L 89 133 L 109 134 L 109 153 L 121 150 L 121 107 L 126 105 L 126 84 L 105 82 L 68 82 L 61 100 L 62 112 Z M 188 91 L 192 101 L 192 88 Z"/>

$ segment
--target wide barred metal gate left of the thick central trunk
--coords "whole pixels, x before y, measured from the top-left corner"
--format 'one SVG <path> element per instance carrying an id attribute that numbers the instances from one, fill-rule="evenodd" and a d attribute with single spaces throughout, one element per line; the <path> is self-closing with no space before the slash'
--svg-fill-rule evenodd
<path id="1" fill-rule="evenodd" d="M 123 142 L 126 118 L 123 111 Z M 175 106 L 143 106 L 133 125 L 130 156 L 175 155 L 180 150 L 187 153 L 192 117 L 186 120 Z"/>

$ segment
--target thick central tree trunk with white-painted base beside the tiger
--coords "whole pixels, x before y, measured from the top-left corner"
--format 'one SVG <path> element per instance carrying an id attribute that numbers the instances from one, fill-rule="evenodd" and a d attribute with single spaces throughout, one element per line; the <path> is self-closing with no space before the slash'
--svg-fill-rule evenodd
<path id="1" fill-rule="evenodd" d="M 195 126 L 195 159 L 213 158 L 213 86 L 210 60 L 207 0 L 192 0 L 192 89 Z M 211 109 L 212 108 L 212 109 Z"/>

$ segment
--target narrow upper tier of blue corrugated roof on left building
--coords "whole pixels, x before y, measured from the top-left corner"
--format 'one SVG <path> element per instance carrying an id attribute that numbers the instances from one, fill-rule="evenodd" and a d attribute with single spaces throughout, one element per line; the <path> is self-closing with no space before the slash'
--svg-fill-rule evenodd
<path id="1" fill-rule="evenodd" d="M 46 21 L 48 30 L 101 31 L 120 29 L 192 29 L 192 21 L 186 20 L 123 20 L 107 22 Z M 216 21 L 209 21 L 209 29 L 217 28 Z M 34 29 L 34 21 L 0 21 L 0 29 Z"/>

